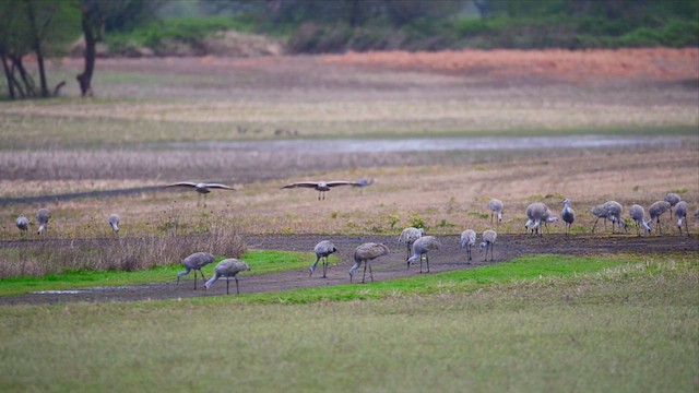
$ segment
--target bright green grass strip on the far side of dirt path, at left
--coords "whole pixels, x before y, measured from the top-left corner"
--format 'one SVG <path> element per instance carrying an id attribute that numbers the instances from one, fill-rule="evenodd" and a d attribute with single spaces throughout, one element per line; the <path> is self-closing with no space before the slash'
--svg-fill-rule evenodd
<path id="1" fill-rule="evenodd" d="M 222 259 L 217 258 L 216 262 Z M 315 260 L 315 254 L 310 252 L 248 250 L 241 260 L 250 266 L 250 273 L 246 273 L 246 275 L 257 275 L 307 267 Z M 214 267 L 215 263 L 204 266 L 202 271 L 206 277 L 210 277 L 213 275 Z M 181 264 L 175 263 L 135 272 L 71 271 L 42 277 L 4 278 L 0 279 L 0 296 L 20 295 L 35 290 L 170 283 L 177 279 L 177 273 L 181 271 Z M 190 273 L 188 279 L 191 279 L 192 274 Z"/>

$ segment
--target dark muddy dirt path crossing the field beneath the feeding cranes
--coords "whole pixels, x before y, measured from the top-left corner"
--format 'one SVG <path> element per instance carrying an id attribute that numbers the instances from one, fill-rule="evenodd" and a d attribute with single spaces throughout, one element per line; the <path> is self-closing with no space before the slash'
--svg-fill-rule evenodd
<path id="1" fill-rule="evenodd" d="M 352 265 L 352 253 L 363 242 L 383 242 L 391 248 L 391 254 L 383 257 L 372 264 L 375 281 L 388 281 L 399 277 L 413 276 L 418 273 L 418 266 L 405 269 L 405 248 L 396 243 L 394 236 L 253 236 L 248 238 L 250 248 L 273 249 L 285 251 L 308 251 L 320 239 L 330 239 L 337 247 L 339 260 L 336 265 L 329 267 L 328 277 L 321 278 L 318 271 L 313 277 L 308 276 L 307 267 L 281 273 L 263 275 L 241 275 L 239 278 L 241 293 L 268 293 L 296 288 L 318 287 L 325 285 L 348 284 L 347 271 Z M 490 263 L 512 260 L 517 257 L 535 253 L 554 254 L 599 254 L 615 252 L 697 252 L 699 237 L 662 236 L 636 237 L 621 235 L 604 236 L 570 236 L 560 234 L 533 237 L 526 235 L 501 235 L 495 247 L 495 261 L 483 262 L 483 255 L 474 252 L 474 261 L 466 264 L 465 252 L 460 248 L 458 236 L 439 237 L 442 248 L 430 253 L 431 273 L 447 272 L 459 269 L 473 269 Z M 309 261 L 309 265 L 312 261 Z M 360 281 L 360 274 L 358 277 Z M 355 281 L 356 282 L 356 281 Z M 359 284 L 357 284 L 359 285 Z M 193 289 L 191 279 L 179 286 L 173 283 L 144 284 L 129 287 L 81 288 L 71 294 L 26 294 L 0 297 L 0 305 L 19 303 L 59 303 L 59 302 L 111 302 L 135 301 L 151 299 L 192 298 L 211 295 L 225 295 L 224 283 L 217 283 L 206 293 L 202 285 Z"/>

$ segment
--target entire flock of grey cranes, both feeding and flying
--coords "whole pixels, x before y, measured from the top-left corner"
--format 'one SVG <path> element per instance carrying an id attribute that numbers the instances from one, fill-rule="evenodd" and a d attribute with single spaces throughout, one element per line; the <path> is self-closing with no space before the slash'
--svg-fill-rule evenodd
<path id="1" fill-rule="evenodd" d="M 312 188 L 319 192 L 318 200 L 324 200 L 324 193 L 330 191 L 333 187 L 339 186 L 352 186 L 352 187 L 367 187 L 374 182 L 372 179 L 360 179 L 358 181 L 299 181 L 291 184 L 286 184 L 283 189 L 291 188 Z M 223 190 L 234 190 L 234 188 L 222 184 L 222 183 L 204 183 L 204 182 L 189 182 L 182 181 L 173 183 L 166 187 L 187 187 L 194 189 L 200 199 L 198 200 L 198 204 L 201 201 L 201 196 L 211 192 L 211 189 L 223 189 Z M 570 199 L 566 198 L 562 200 L 564 209 L 560 212 L 560 219 L 566 225 L 566 235 L 569 235 L 571 231 L 572 224 L 576 221 L 576 212 L 570 206 Z M 495 217 L 497 217 L 497 225 L 499 226 L 502 223 L 502 213 L 505 210 L 505 204 L 502 201 L 498 199 L 491 199 L 488 201 L 488 210 L 490 210 L 490 224 L 493 225 L 495 222 Z M 616 201 L 607 201 L 601 205 L 594 206 L 590 213 L 596 218 L 593 226 L 592 233 L 594 233 L 596 225 L 600 219 L 603 221 L 605 230 L 606 230 L 606 222 L 612 222 L 612 233 L 615 233 L 616 225 L 619 228 L 623 228 L 627 231 L 627 223 L 623 218 L 624 206 Z M 636 223 L 636 229 L 638 236 L 641 236 L 641 228 L 644 234 L 651 234 L 653 230 L 653 225 L 655 225 L 655 230 L 657 234 L 662 234 L 661 226 L 661 216 L 665 213 L 670 212 L 671 219 L 674 213 L 675 218 L 677 219 L 677 227 L 679 229 L 680 235 L 683 234 L 682 224 L 685 223 L 685 231 L 689 235 L 688 224 L 687 224 L 687 212 L 688 205 L 687 202 L 683 201 L 682 198 L 677 193 L 668 193 L 664 200 L 656 201 L 650 205 L 648 209 L 648 213 L 650 218 L 645 219 L 645 210 L 643 206 L 639 204 L 633 204 L 629 209 L 629 215 L 631 221 Z M 541 202 L 535 202 L 530 204 L 526 210 L 526 223 L 524 227 L 528 231 L 532 234 L 536 234 L 538 236 L 543 236 L 542 226 L 544 228 L 548 228 L 549 223 L 558 222 L 558 217 L 554 215 L 554 213 L 546 206 L 546 204 Z M 699 210 L 697 210 L 694 214 L 695 217 L 699 218 Z M 38 235 L 44 234 L 48 228 L 48 223 L 50 221 L 51 214 L 47 209 L 39 209 L 36 212 L 36 222 L 38 224 Z M 119 216 L 117 214 L 110 214 L 108 216 L 108 224 L 114 230 L 115 235 L 119 236 Z M 26 236 L 28 233 L 29 222 L 24 214 L 21 214 L 16 219 L 16 226 L 20 229 L 20 234 L 22 236 Z M 479 243 L 479 248 L 485 251 L 484 261 L 488 260 L 488 250 L 490 251 L 490 261 L 494 260 L 494 247 L 495 241 L 497 239 L 497 233 L 493 229 L 487 229 L 482 235 L 483 241 Z M 441 243 L 435 236 L 426 236 L 425 230 L 423 228 L 414 228 L 408 227 L 405 228 L 398 238 L 399 245 L 405 245 L 406 247 L 406 257 L 405 262 L 407 264 L 407 269 L 410 269 L 412 263 L 416 263 L 419 261 L 419 272 L 423 273 L 423 262 L 426 264 L 425 273 L 429 273 L 429 257 L 428 253 L 433 250 L 438 250 L 441 247 Z M 476 243 L 476 233 L 473 229 L 466 229 L 461 234 L 461 248 L 466 251 L 467 262 L 472 261 L 472 250 Z M 310 266 L 310 275 L 312 276 L 318 263 L 322 260 L 323 265 L 323 275 L 322 277 L 327 277 L 328 272 L 328 258 L 337 252 L 337 248 L 330 240 L 322 240 L 318 245 L 316 245 L 313 249 L 316 253 L 316 261 Z M 359 247 L 357 247 L 354 251 L 354 264 L 350 269 L 350 282 L 353 282 L 354 274 L 362 267 L 364 264 L 364 274 L 362 277 L 362 283 L 366 282 L 366 272 L 369 270 L 369 276 L 371 282 L 374 282 L 374 272 L 371 269 L 371 261 L 388 255 L 390 253 L 389 248 L 382 243 L 376 242 L 366 242 Z M 201 278 L 204 283 L 204 288 L 208 290 L 216 281 L 221 277 L 226 277 L 226 294 L 229 294 L 228 283 L 230 278 L 234 278 L 236 282 L 236 291 L 239 294 L 238 286 L 238 273 L 250 271 L 250 267 L 242 261 L 237 259 L 225 259 L 221 261 L 215 270 L 214 276 L 206 281 L 204 274 L 202 272 L 202 267 L 208 264 L 211 264 L 215 261 L 213 254 L 209 252 L 196 252 L 182 261 L 185 266 L 185 271 L 180 272 L 177 275 L 177 284 L 179 285 L 180 279 L 188 275 L 191 271 L 194 271 L 194 289 L 197 289 L 197 272 L 201 274 Z"/>

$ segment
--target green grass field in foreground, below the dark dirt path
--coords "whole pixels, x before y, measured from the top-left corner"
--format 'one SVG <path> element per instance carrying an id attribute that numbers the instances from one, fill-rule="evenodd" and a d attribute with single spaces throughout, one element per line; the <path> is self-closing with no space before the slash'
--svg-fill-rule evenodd
<path id="1" fill-rule="evenodd" d="M 0 389 L 696 391 L 691 257 L 534 257 L 368 300 L 379 285 L 348 301 L 1 307 Z"/>

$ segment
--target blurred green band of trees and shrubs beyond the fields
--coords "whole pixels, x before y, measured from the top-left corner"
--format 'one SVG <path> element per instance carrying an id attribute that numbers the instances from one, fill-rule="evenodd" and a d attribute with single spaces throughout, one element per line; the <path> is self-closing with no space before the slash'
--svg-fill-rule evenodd
<path id="1" fill-rule="evenodd" d="M 162 14 L 170 16 L 128 26 L 107 43 L 117 51 L 128 43 L 196 45 L 238 29 L 307 53 L 699 46 L 696 0 L 199 0 L 166 4 Z"/>

